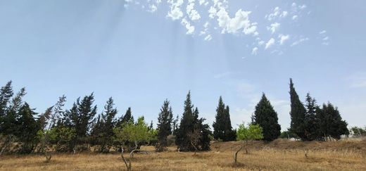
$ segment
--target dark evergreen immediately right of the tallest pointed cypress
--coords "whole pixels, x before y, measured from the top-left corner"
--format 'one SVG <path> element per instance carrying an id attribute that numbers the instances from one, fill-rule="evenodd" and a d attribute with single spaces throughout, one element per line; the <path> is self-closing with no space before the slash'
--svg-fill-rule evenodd
<path id="1" fill-rule="evenodd" d="M 305 141 L 313 141 L 318 139 L 320 132 L 319 132 L 319 120 L 317 118 L 316 109 L 317 104 L 315 99 L 313 99 L 310 94 L 306 94 L 305 99 L 305 107 L 306 107 L 306 114 L 305 114 Z"/>

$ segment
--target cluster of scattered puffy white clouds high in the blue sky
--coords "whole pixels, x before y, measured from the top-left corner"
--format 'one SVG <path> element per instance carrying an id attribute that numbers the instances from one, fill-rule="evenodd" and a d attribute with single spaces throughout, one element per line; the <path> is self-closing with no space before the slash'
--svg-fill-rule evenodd
<path id="1" fill-rule="evenodd" d="M 181 23 L 187 30 L 186 34 L 201 37 L 204 41 L 214 39 L 214 32 L 217 31 L 219 34 L 251 35 L 253 36 L 251 39 L 255 42 L 246 44 L 246 48 L 253 56 L 267 49 L 271 49 L 270 53 L 282 54 L 286 46 L 296 46 L 309 40 L 308 37 L 297 36 L 296 33 L 291 35 L 286 33 L 286 30 L 289 30 L 287 27 L 298 27 L 301 18 L 307 12 L 305 10 L 308 6 L 305 4 L 294 2 L 286 6 L 274 6 L 265 15 L 265 20 L 258 24 L 251 18 L 252 11 L 241 8 L 234 11 L 230 8 L 229 11 L 229 0 L 124 1 L 126 6 L 136 4 L 151 13 L 158 11 L 160 4 L 166 3 L 168 5 L 166 18 Z M 309 14 L 310 11 L 307 13 Z M 267 32 L 259 35 L 258 30 L 263 30 L 260 27 L 264 27 L 264 31 L 267 30 Z M 328 45 L 330 37 L 327 36 L 327 31 L 323 30 L 319 34 L 318 39 L 322 40 L 321 44 Z"/>

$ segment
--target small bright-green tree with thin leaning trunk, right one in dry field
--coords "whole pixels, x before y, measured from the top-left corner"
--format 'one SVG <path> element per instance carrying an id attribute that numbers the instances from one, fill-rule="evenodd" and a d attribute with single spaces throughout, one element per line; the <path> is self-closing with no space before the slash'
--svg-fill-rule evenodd
<path id="1" fill-rule="evenodd" d="M 259 125 L 251 124 L 246 127 L 244 124 L 241 124 L 236 130 L 236 139 L 242 143 L 239 150 L 234 153 L 234 164 L 236 164 L 236 158 L 239 151 L 241 151 L 244 146 L 246 147 L 246 153 L 248 153 L 248 143 L 250 141 L 263 139 L 263 129 Z"/>

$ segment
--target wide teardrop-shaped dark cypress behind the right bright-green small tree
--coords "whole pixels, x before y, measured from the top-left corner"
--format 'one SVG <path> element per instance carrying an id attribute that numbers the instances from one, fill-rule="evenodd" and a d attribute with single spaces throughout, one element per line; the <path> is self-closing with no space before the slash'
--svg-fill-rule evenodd
<path id="1" fill-rule="evenodd" d="M 264 93 L 262 99 L 255 106 L 252 122 L 254 125 L 260 125 L 263 128 L 263 139 L 265 141 L 273 141 L 281 134 L 277 113 Z"/>

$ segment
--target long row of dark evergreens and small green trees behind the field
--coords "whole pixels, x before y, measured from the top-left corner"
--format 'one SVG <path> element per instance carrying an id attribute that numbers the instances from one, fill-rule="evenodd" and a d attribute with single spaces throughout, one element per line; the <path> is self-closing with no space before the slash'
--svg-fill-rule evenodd
<path id="1" fill-rule="evenodd" d="M 342 120 L 338 108 L 332 103 L 318 106 L 310 94 L 303 103 L 291 79 L 289 85 L 291 127 L 281 133 L 277 112 L 264 93 L 255 106 L 248 127 L 242 124 L 238 129 L 233 129 L 229 106 L 220 96 L 211 131 L 205 118 L 199 117 L 190 91 L 184 101 L 182 117 L 174 117 L 170 101 L 166 99 L 154 128 L 152 121 L 149 125 L 144 116 L 134 120 L 131 108 L 116 117 L 120 112 L 112 98 L 98 113 L 93 93 L 76 99 L 70 109 L 65 109 L 66 97 L 61 96 L 44 113 L 36 113 L 23 101 L 25 88 L 14 94 L 10 81 L 0 90 L 0 155 L 15 152 L 46 154 L 48 151 L 75 153 L 92 149 L 101 153 L 108 153 L 111 149 L 131 151 L 130 155 L 133 155 L 141 145 L 149 144 L 156 146 L 156 151 L 165 151 L 171 143 L 175 143 L 179 151 L 209 151 L 210 141 L 214 139 L 273 141 L 278 137 L 294 137 L 303 141 L 326 141 L 349 134 L 347 122 Z"/>

